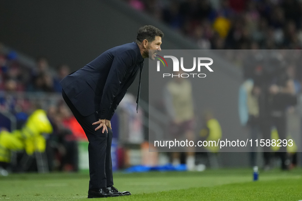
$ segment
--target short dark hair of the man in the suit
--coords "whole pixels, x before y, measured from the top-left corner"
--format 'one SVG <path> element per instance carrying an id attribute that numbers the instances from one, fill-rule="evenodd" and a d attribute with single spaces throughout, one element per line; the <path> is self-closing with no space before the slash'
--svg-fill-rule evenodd
<path id="1" fill-rule="evenodd" d="M 136 42 L 141 43 L 145 39 L 149 42 L 152 42 L 153 40 L 155 40 L 156 36 L 160 36 L 162 38 L 164 37 L 164 33 L 162 33 L 162 31 L 160 31 L 156 27 L 153 27 L 152 25 L 146 25 L 138 29 Z"/>

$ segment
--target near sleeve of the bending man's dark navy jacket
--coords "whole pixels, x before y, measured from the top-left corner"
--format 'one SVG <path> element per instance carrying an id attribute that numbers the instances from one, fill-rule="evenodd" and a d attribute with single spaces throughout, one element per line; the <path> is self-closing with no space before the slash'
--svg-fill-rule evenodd
<path id="1" fill-rule="evenodd" d="M 98 111 L 99 119 L 106 119 L 106 117 L 111 115 L 109 115 L 109 113 L 113 99 L 119 92 L 120 84 L 122 83 L 127 70 L 134 64 L 135 55 L 136 53 L 133 49 L 127 49 L 114 57 L 103 90 L 101 107 L 100 111 Z"/>

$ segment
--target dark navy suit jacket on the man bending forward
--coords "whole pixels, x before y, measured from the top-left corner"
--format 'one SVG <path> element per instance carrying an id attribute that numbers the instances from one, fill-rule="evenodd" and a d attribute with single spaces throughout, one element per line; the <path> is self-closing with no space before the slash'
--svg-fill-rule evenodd
<path id="1" fill-rule="evenodd" d="M 81 115 L 98 111 L 100 119 L 110 120 L 143 62 L 137 44 L 127 43 L 109 49 L 60 83 Z"/>

